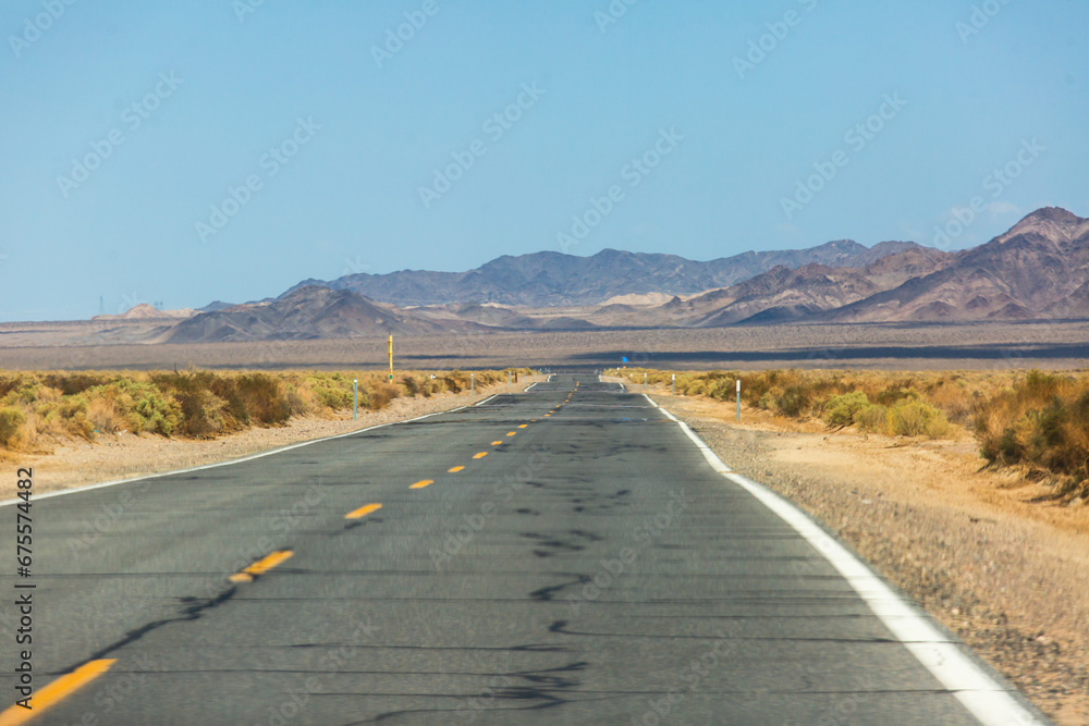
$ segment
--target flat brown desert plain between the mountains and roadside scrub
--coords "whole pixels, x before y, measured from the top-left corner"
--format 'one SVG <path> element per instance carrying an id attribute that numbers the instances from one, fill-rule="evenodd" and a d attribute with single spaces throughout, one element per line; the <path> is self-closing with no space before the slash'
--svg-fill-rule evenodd
<path id="1" fill-rule="evenodd" d="M 2 323 L 0 369 L 382 368 L 386 336 L 249 343 L 126 344 L 149 323 Z M 86 345 L 102 340 L 111 345 Z M 1085 368 L 1085 322 L 742 325 L 394 337 L 399 368 L 657 368 L 956 370 Z"/>

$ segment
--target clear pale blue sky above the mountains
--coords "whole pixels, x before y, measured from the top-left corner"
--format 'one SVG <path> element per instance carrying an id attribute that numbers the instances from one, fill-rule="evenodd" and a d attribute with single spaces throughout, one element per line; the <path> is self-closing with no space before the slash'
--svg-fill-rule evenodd
<path id="1" fill-rule="evenodd" d="M 1087 27 L 1077 0 L 8 0 L 0 320 L 1087 216 Z"/>

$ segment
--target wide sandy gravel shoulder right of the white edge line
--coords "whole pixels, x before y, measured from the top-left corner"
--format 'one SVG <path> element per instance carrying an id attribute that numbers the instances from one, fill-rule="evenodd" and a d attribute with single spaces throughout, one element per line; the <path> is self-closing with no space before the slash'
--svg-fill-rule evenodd
<path id="1" fill-rule="evenodd" d="M 1089 724 L 1089 505 L 1060 505 L 1042 484 L 986 469 L 967 433 L 865 436 L 747 407 L 738 424 L 733 404 L 648 392 L 727 466 L 822 521 L 1056 723 Z"/>

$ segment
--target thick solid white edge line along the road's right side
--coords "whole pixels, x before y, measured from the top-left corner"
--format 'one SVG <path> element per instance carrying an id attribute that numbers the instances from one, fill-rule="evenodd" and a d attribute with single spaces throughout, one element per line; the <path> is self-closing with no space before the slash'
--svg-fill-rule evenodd
<path id="1" fill-rule="evenodd" d="M 873 614 L 908 651 L 984 726 L 1043 726 L 1010 690 L 983 672 L 959 647 L 945 637 L 929 617 L 905 602 L 873 570 L 855 557 L 840 542 L 828 536 L 793 503 L 763 484 L 747 479 L 722 463 L 688 426 L 651 401 L 647 401 L 676 421 L 681 430 L 702 452 L 711 467 L 775 513 L 800 534 L 834 567 L 866 602 Z"/>

